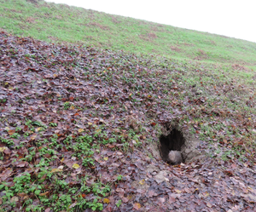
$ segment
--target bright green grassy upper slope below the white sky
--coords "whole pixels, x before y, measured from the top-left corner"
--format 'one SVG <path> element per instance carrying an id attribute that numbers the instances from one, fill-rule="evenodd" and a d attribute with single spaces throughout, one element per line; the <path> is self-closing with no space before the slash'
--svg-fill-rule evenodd
<path id="1" fill-rule="evenodd" d="M 15 35 L 256 67 L 256 43 L 44 1 L 0 2 L 0 27 Z"/>

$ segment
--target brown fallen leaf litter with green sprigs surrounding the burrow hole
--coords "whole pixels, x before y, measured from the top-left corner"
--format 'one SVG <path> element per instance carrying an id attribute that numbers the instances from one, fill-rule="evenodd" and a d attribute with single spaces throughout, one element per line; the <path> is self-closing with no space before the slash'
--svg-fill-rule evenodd
<path id="1" fill-rule="evenodd" d="M 0 37 L 3 211 L 255 211 L 253 87 L 193 61 Z M 152 157 L 165 123 L 208 157 Z"/>

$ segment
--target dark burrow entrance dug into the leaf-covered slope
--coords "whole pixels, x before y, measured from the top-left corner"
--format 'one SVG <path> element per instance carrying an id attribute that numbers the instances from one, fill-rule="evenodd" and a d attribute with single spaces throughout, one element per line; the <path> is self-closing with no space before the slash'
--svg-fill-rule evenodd
<path id="1" fill-rule="evenodd" d="M 163 161 L 170 163 L 169 153 L 175 151 L 178 157 L 180 155 L 182 157 L 179 163 L 186 163 L 200 158 L 198 145 L 199 140 L 196 140 L 192 135 L 183 132 L 178 126 L 166 124 L 162 130 L 162 135 L 160 135 L 160 157 Z"/>

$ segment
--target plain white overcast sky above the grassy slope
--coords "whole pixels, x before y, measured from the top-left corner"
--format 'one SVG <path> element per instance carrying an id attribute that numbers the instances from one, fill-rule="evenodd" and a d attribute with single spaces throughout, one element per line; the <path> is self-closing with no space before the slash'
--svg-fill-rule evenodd
<path id="1" fill-rule="evenodd" d="M 256 43 L 255 0 L 46 0 Z"/>

